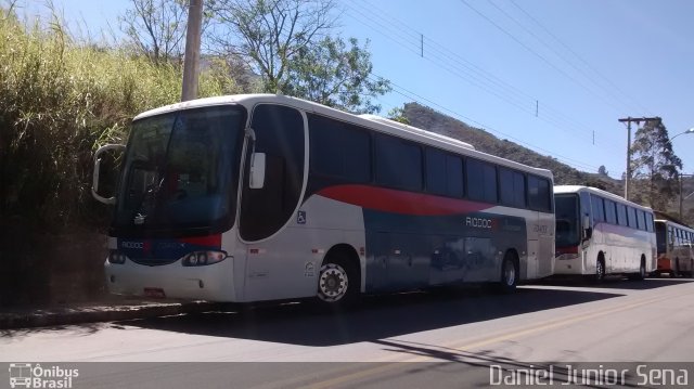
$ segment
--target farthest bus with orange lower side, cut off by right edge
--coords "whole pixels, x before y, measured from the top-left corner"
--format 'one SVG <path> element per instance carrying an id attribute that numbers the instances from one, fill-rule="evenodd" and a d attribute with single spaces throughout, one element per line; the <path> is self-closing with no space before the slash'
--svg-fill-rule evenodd
<path id="1" fill-rule="evenodd" d="M 694 230 L 670 220 L 656 220 L 658 267 L 654 275 L 668 273 L 671 277 L 694 276 Z"/>

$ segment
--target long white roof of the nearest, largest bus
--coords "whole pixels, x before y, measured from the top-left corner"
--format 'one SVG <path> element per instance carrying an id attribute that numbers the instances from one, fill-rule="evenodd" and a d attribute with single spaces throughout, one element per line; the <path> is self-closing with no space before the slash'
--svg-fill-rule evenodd
<path id="1" fill-rule="evenodd" d="M 441 135 L 436 132 L 427 131 L 421 128 L 406 126 L 394 120 L 389 120 L 375 115 L 352 115 L 343 111 L 327 107 L 318 103 L 313 103 L 307 100 L 285 96 L 281 94 L 233 94 L 206 99 L 191 100 L 187 102 L 166 105 L 163 107 L 154 108 L 144 112 L 134 117 L 134 120 L 139 120 L 145 117 L 162 115 L 175 111 L 191 109 L 205 106 L 215 105 L 230 105 L 240 104 L 250 111 L 257 104 L 281 104 L 292 106 L 308 113 L 320 114 L 330 116 L 334 119 L 347 121 L 357 126 L 370 128 L 372 130 L 395 135 L 398 138 L 411 140 L 417 143 L 424 143 L 432 146 L 440 147 L 451 151 L 457 154 L 471 155 L 479 159 L 484 159 L 498 165 L 503 165 L 510 168 L 515 168 L 523 171 L 531 171 L 538 176 L 552 178 L 552 172 L 548 169 L 535 168 L 531 166 L 523 165 L 503 157 L 490 155 L 476 151 L 470 143 L 462 142 L 460 140 Z"/>

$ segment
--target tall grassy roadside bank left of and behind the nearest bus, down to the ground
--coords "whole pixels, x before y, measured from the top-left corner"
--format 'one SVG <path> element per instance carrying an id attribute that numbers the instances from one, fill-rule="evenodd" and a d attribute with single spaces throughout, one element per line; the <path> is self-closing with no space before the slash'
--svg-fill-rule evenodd
<path id="1" fill-rule="evenodd" d="M 180 99 L 180 66 L 78 41 L 64 26 L 0 9 L 0 306 L 102 291 L 111 209 L 91 197 L 93 151 L 125 142 L 138 113 Z M 201 75 L 201 95 L 237 92 L 224 66 Z"/>

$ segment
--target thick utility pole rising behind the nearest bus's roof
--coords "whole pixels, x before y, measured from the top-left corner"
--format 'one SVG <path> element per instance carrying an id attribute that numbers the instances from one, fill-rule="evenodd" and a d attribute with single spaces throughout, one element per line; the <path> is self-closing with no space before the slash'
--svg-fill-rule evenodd
<path id="1" fill-rule="evenodd" d="M 188 8 L 188 30 L 185 33 L 185 57 L 183 61 L 183 90 L 181 92 L 181 101 L 197 98 L 202 26 L 203 0 L 190 0 Z"/>

